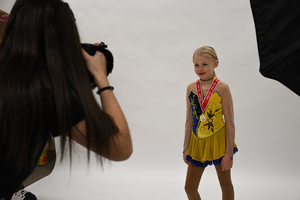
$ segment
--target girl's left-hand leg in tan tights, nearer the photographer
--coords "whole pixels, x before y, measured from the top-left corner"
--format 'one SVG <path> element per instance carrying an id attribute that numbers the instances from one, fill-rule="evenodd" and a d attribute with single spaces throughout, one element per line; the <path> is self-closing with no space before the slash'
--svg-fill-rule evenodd
<path id="1" fill-rule="evenodd" d="M 189 200 L 201 200 L 198 192 L 198 187 L 204 169 L 205 168 L 203 167 L 192 165 L 191 162 L 189 162 L 188 164 L 188 170 L 185 181 L 185 192 Z"/>

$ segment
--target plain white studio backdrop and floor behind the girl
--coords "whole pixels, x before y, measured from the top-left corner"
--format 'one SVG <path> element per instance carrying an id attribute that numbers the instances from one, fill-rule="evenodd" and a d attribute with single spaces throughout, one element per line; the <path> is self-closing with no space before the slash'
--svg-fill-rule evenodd
<path id="1" fill-rule="evenodd" d="M 0 1 L 9 12 L 14 1 Z M 299 96 L 259 73 L 249 1 L 66 2 L 82 42 L 104 41 L 114 55 L 109 79 L 128 119 L 134 153 L 101 170 L 95 160 L 88 167 L 78 147 L 72 170 L 57 164 L 51 176 L 28 188 L 39 199 L 185 199 L 185 92 L 197 79 L 192 54 L 203 45 L 216 49 L 217 76 L 234 99 L 236 199 L 300 199 Z M 203 199 L 221 198 L 212 167 L 200 192 Z"/>

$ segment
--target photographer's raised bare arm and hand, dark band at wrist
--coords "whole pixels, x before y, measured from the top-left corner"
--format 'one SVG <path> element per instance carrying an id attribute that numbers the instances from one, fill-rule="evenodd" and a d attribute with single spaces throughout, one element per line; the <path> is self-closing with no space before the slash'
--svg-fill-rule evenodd
<path id="1" fill-rule="evenodd" d="M 109 82 L 106 77 L 106 60 L 104 55 L 100 52 L 97 52 L 94 56 L 89 56 L 87 53 L 83 52 L 83 55 L 86 59 L 89 71 L 94 76 L 97 87 L 100 89 L 109 86 Z M 109 149 L 109 159 L 114 161 L 126 160 L 132 153 L 132 141 L 126 118 L 112 90 L 102 91 L 100 93 L 100 100 L 103 111 L 113 118 L 119 129 L 119 133 L 112 138 Z M 79 122 L 76 127 L 72 128 L 72 137 L 75 141 L 86 147 L 85 120 Z M 94 151 L 92 146 L 91 150 Z M 108 155 L 101 156 L 108 158 Z"/>

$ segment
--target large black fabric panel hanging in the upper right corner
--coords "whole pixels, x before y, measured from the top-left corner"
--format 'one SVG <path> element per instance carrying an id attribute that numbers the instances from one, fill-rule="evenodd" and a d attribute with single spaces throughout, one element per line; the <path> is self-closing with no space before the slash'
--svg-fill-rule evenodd
<path id="1" fill-rule="evenodd" d="M 300 96 L 300 1 L 250 0 L 263 76 Z"/>

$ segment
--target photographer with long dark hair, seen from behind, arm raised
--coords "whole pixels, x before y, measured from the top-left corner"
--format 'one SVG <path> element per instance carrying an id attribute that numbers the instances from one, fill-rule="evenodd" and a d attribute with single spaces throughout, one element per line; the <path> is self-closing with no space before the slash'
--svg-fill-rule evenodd
<path id="1" fill-rule="evenodd" d="M 32 173 L 51 136 L 61 137 L 62 156 L 69 150 L 71 157 L 76 141 L 101 163 L 130 157 L 129 128 L 106 70 L 102 53 L 90 56 L 81 49 L 66 3 L 16 0 L 0 46 L 1 200 Z"/>

